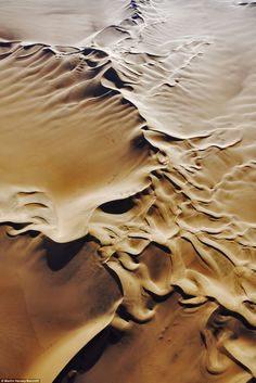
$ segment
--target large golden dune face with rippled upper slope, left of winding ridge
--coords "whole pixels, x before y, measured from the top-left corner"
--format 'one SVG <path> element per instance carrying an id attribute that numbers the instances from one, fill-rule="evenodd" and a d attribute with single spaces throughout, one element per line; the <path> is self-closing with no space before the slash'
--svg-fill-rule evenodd
<path id="1" fill-rule="evenodd" d="M 3 78 L 1 89 L 2 221 L 34 222 L 60 242 L 79 238 L 93 209 L 146 186 L 155 161 L 143 119 L 110 88 L 105 53 L 13 50 L 16 81 Z"/>

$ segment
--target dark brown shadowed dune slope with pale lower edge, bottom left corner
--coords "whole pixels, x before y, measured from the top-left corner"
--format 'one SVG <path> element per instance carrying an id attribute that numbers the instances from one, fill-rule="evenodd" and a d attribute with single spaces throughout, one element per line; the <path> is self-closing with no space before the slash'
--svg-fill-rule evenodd
<path id="1" fill-rule="evenodd" d="M 1 376 L 50 382 L 110 323 L 119 288 L 93 241 L 56 246 L 41 235 L 10 238 L 4 226 L 0 235 Z"/>

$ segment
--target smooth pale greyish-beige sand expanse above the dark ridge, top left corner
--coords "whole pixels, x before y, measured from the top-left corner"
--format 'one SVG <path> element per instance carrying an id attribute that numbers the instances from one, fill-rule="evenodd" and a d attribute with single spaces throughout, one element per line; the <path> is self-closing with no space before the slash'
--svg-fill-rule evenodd
<path id="1" fill-rule="evenodd" d="M 55 44 L 76 44 L 129 14 L 129 1 L 42 0 L 1 2 L 0 38 Z M 98 13 L 95 20 L 94 14 Z M 29 16 L 28 16 L 29 15 Z"/>

